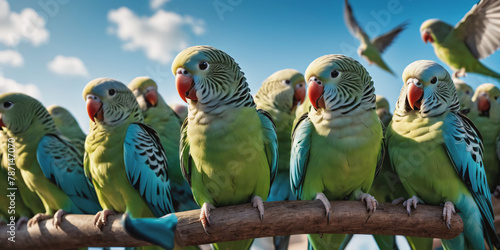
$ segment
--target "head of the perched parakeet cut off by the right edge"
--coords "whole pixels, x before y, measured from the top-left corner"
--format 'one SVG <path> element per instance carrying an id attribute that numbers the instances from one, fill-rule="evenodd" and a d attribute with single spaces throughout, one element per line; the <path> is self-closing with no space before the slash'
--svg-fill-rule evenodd
<path id="1" fill-rule="evenodd" d="M 500 89 L 497 86 L 492 83 L 479 85 L 472 102 L 471 113 L 500 124 Z"/>

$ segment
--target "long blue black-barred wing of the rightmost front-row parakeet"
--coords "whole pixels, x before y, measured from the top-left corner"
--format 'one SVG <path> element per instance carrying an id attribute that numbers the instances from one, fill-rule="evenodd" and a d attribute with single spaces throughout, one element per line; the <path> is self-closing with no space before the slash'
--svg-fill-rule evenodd
<path id="1" fill-rule="evenodd" d="M 497 248 L 500 241 L 493 225 L 491 193 L 483 165 L 483 144 L 474 124 L 465 116 L 450 112 L 444 122 L 444 144 L 456 172 L 469 188 L 481 212 L 483 232 Z"/>

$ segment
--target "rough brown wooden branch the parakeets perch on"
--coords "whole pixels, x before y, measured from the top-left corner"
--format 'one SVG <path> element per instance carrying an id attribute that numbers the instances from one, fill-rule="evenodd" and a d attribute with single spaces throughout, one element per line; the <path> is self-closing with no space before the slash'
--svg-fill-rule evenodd
<path id="1" fill-rule="evenodd" d="M 200 245 L 220 241 L 242 240 L 288 234 L 346 233 L 407 235 L 451 239 L 463 230 L 458 215 L 453 215 L 451 229 L 442 219 L 442 207 L 418 205 L 411 216 L 402 205 L 380 204 L 369 214 L 360 201 L 331 202 L 330 222 L 319 201 L 287 201 L 264 203 L 265 215 L 261 222 L 251 204 L 217 208 L 211 211 L 212 224 L 207 235 L 198 221 L 200 210 L 176 213 L 178 225 L 176 241 L 181 245 Z M 108 224 L 99 231 L 93 226 L 93 215 L 66 215 L 61 228 L 52 226 L 52 219 L 16 231 L 16 242 L 8 240 L 9 227 L 1 226 L 0 246 L 4 249 L 132 247 L 149 243 L 127 235 L 121 225 L 121 215 L 109 216 Z"/>

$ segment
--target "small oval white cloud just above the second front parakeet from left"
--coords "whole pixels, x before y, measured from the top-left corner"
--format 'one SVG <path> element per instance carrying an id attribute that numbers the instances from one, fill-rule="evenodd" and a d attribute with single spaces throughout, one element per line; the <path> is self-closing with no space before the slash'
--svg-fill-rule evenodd
<path id="1" fill-rule="evenodd" d="M 50 71 L 59 75 L 88 76 L 89 72 L 78 57 L 58 55 L 47 64 Z"/>

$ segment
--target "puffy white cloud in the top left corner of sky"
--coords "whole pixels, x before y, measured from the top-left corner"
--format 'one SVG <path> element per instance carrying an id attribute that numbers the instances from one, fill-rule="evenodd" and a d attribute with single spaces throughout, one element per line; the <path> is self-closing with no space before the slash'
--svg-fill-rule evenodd
<path id="1" fill-rule="evenodd" d="M 28 41 L 39 46 L 48 40 L 45 20 L 35 10 L 25 8 L 19 13 L 11 12 L 9 3 L 0 0 L 0 43 L 13 47 Z"/>

